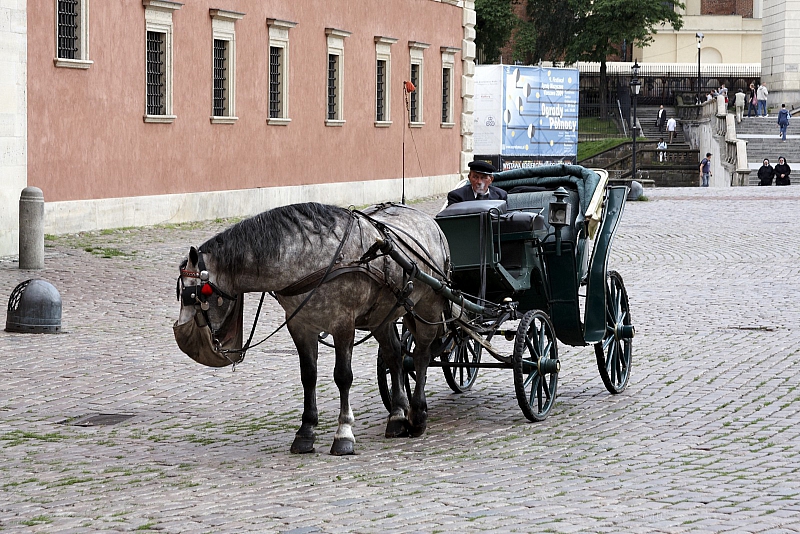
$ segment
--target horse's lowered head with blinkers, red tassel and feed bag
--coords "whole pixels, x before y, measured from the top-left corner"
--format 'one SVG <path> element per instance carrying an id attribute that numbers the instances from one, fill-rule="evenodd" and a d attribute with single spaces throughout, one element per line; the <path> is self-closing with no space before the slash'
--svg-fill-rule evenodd
<path id="1" fill-rule="evenodd" d="M 242 359 L 244 295 L 234 295 L 214 267 L 212 255 L 191 247 L 180 267 L 181 311 L 172 329 L 178 347 L 193 360 L 224 367 Z"/>

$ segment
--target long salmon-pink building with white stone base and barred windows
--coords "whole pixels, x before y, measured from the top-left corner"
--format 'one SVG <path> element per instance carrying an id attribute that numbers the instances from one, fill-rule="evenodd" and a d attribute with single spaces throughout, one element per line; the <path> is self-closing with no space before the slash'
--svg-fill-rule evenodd
<path id="1" fill-rule="evenodd" d="M 472 0 L 18 4 L 0 255 L 26 185 L 61 233 L 437 194 L 471 160 Z"/>

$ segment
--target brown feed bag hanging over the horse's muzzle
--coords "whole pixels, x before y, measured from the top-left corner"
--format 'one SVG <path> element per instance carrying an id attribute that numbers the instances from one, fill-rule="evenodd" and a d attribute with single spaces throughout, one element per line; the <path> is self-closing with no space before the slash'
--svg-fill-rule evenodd
<path id="1" fill-rule="evenodd" d="M 244 295 L 239 295 L 233 311 L 218 332 L 218 334 L 222 335 L 219 339 L 219 349 L 221 351 L 242 348 L 243 303 Z M 198 324 L 198 321 L 204 321 L 203 316 L 195 313 L 185 323 L 178 324 L 178 321 L 175 321 L 172 326 L 175 341 L 181 351 L 197 363 L 202 363 L 209 367 L 225 367 L 241 358 L 240 354 L 231 354 L 230 357 L 226 357 L 223 352 L 217 350 L 211 337 L 211 328 L 205 324 Z"/>

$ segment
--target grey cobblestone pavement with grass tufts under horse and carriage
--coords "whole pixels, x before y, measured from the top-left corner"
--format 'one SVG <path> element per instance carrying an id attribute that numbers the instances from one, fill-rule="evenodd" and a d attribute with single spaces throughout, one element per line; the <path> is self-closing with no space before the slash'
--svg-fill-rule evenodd
<path id="1" fill-rule="evenodd" d="M 646 193 L 628 204 L 610 262 L 637 327 L 625 392 L 606 392 L 591 347 L 561 345 L 559 398 L 531 424 L 510 372 L 481 370 L 455 395 L 432 369 L 427 433 L 388 440 L 367 343 L 354 355 L 358 454 L 344 458 L 327 454 L 330 349 L 318 452 L 298 456 L 288 334 L 236 372 L 175 345 L 178 263 L 223 222 L 49 239 L 41 272 L 0 259 L 3 298 L 45 278 L 64 328 L 0 332 L 0 530 L 800 531 L 800 194 Z M 281 317 L 270 302 L 256 335 Z M 68 424 L 98 413 L 133 417 Z"/>

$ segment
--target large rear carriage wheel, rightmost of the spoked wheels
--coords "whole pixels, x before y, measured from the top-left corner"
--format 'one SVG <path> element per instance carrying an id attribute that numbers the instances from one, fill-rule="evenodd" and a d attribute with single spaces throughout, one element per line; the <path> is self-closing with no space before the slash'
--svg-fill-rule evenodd
<path id="1" fill-rule="evenodd" d="M 610 393 L 621 393 L 628 385 L 633 333 L 628 292 L 622 276 L 609 271 L 606 279 L 606 333 L 601 342 L 595 343 L 594 352 L 600 378 Z"/>

